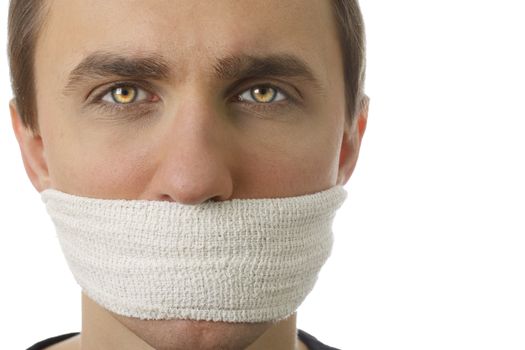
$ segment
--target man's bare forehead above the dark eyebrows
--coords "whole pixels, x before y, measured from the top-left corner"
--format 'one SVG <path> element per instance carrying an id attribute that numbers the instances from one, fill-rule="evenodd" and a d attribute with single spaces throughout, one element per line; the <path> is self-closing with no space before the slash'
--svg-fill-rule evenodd
<path id="1" fill-rule="evenodd" d="M 157 53 L 180 76 L 232 54 L 293 53 L 322 78 L 340 65 L 328 0 L 49 0 L 35 62 L 37 85 L 63 84 L 97 51 Z"/>

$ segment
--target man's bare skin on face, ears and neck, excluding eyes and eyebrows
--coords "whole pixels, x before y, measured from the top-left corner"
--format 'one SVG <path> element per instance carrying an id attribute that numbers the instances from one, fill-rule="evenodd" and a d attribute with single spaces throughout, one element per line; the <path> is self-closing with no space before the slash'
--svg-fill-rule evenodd
<path id="1" fill-rule="evenodd" d="M 240 4 L 47 1 L 35 56 L 39 133 L 21 124 L 16 101 L 11 103 L 13 128 L 34 187 L 198 204 L 297 196 L 345 184 L 357 161 L 368 106 L 348 122 L 330 3 Z M 132 118 L 137 103 L 111 113 L 107 104 L 91 98 L 92 92 L 122 81 L 118 76 L 98 77 L 64 93 L 71 70 L 100 50 L 168 60 L 169 77 L 149 82 L 145 90 L 141 106 L 147 113 Z M 271 53 L 300 57 L 321 86 L 272 76 L 238 85 L 211 74 L 218 58 Z M 273 107 L 263 111 L 256 108 L 261 102 L 235 99 L 262 83 L 273 83 L 297 101 L 271 102 Z M 104 350 L 116 344 L 130 350 L 305 349 L 297 341 L 295 315 L 275 324 L 144 321 L 112 314 L 86 296 L 82 305 L 82 336 L 56 349 Z"/>

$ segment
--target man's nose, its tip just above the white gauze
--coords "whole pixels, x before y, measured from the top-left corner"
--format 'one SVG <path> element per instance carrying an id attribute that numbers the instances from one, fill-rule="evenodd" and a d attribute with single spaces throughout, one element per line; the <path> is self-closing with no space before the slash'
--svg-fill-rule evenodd
<path id="1" fill-rule="evenodd" d="M 191 205 L 229 199 L 234 158 L 224 118 L 204 103 L 194 103 L 165 121 L 149 186 L 153 197 Z"/>

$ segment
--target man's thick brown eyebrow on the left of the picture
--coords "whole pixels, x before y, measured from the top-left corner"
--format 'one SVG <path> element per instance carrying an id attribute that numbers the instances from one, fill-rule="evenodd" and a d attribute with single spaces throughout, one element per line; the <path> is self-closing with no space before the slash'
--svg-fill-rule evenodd
<path id="1" fill-rule="evenodd" d="M 64 94 L 68 94 L 82 82 L 107 76 L 129 79 L 167 80 L 169 64 L 162 55 L 150 53 L 117 54 L 97 51 L 85 57 L 69 74 Z"/>

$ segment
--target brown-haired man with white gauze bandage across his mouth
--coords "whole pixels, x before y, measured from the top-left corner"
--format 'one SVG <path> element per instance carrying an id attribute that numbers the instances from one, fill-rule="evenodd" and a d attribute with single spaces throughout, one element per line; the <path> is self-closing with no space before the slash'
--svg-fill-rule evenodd
<path id="1" fill-rule="evenodd" d="M 33 348 L 329 349 L 295 310 L 366 127 L 357 2 L 12 0 L 9 20 L 13 128 L 83 288 L 81 333 Z"/>

